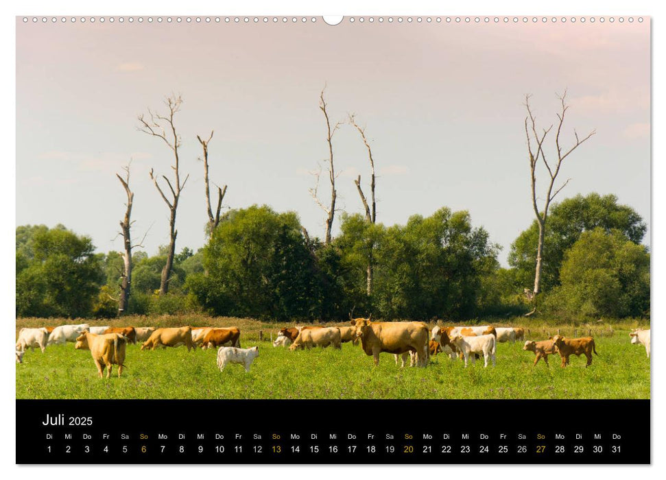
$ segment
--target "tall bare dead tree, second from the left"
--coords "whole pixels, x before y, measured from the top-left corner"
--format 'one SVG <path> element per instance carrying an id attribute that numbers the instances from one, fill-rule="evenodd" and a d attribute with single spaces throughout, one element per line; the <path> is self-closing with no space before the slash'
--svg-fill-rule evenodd
<path id="1" fill-rule="evenodd" d="M 160 115 L 157 112 L 153 112 L 148 108 L 148 115 L 150 119 L 145 119 L 143 114 L 139 115 L 139 131 L 150 136 L 154 136 L 158 139 L 162 139 L 164 143 L 167 144 L 167 147 L 171 149 L 171 152 L 174 154 L 174 165 L 171 165 L 171 169 L 174 171 L 174 183 L 171 183 L 171 180 L 167 176 L 161 176 L 164 182 L 169 187 L 169 192 L 171 193 L 171 200 L 167 198 L 162 187 L 158 183 L 158 177 L 154 174 L 154 169 L 150 169 L 150 179 L 153 181 L 155 188 L 160 193 L 162 200 L 169 207 L 169 250 L 167 252 L 167 263 L 162 269 L 162 278 L 160 280 L 160 296 L 165 295 L 169 291 L 169 280 L 171 275 L 171 268 L 174 265 L 174 255 L 176 253 L 176 237 L 178 236 L 178 230 L 176 230 L 176 212 L 178 211 L 178 200 L 180 200 L 180 192 L 185 187 L 185 183 L 189 178 L 189 175 L 185 177 L 185 180 L 180 182 L 180 158 L 178 158 L 178 147 L 180 147 L 180 135 L 176 131 L 176 124 L 174 123 L 174 117 L 176 113 L 180 111 L 180 105 L 182 104 L 182 98 L 180 95 L 171 95 L 167 97 L 164 101 L 169 112 L 166 115 Z M 169 133 L 167 134 L 167 130 Z M 168 138 L 167 138 L 168 137 Z"/>

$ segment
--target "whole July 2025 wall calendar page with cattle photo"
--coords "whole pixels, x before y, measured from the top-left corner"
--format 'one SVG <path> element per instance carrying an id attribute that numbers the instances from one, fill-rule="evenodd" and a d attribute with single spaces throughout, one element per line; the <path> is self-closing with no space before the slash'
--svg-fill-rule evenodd
<path id="1" fill-rule="evenodd" d="M 16 463 L 650 464 L 650 22 L 17 16 Z"/>

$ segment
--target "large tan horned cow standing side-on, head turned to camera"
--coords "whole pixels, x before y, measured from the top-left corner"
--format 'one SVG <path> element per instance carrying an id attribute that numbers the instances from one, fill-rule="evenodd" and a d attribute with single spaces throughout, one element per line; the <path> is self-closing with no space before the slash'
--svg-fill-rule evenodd
<path id="1" fill-rule="evenodd" d="M 357 318 L 351 320 L 351 324 L 356 328 L 356 336 L 361 339 L 363 351 L 372 355 L 374 365 L 379 365 L 381 352 L 394 355 L 414 352 L 416 365 L 428 365 L 429 331 L 425 323 L 372 322 L 370 318 Z"/>

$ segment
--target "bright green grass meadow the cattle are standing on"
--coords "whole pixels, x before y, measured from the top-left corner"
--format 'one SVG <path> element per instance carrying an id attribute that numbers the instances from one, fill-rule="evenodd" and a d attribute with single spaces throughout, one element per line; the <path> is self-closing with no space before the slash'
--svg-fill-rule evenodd
<path id="1" fill-rule="evenodd" d="M 142 323 L 166 326 L 152 320 Z M 197 324 L 182 319 L 169 324 L 173 322 Z M 212 349 L 142 352 L 139 345 L 130 345 L 123 376 L 117 377 L 114 365 L 110 379 L 99 379 L 90 352 L 68 343 L 49 346 L 45 353 L 25 353 L 24 363 L 16 364 L 16 398 L 650 398 L 650 360 L 643 346 L 630 344 L 627 326 L 605 335 L 593 331 L 599 356 L 589 368 L 583 356 L 571 357 L 571 365 L 562 369 L 558 355 L 549 357 L 549 367 L 543 361 L 533 367 L 534 354 L 516 342 L 498 344 L 495 368 L 484 368 L 482 359 L 464 368 L 462 361 L 440 354 L 427 368 L 401 369 L 389 354 L 381 354 L 375 368 L 360 346 L 291 352 L 259 341 L 259 329 L 265 328 L 265 336 L 269 331 L 275 335 L 275 325 L 219 322 L 241 328 L 243 348 L 259 346 L 249 374 L 241 365 L 219 372 Z M 17 331 L 37 324 L 38 319 L 17 320 Z M 535 329 L 528 338 L 543 339 L 544 332 Z"/>

